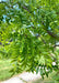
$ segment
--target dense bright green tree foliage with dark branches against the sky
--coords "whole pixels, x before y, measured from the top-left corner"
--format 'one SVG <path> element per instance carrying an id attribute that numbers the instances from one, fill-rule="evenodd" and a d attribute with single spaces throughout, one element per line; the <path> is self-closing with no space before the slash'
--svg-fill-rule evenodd
<path id="1" fill-rule="evenodd" d="M 59 0 L 9 0 L 0 2 L 0 42 L 14 72 L 40 71 L 44 77 L 58 71 Z"/>

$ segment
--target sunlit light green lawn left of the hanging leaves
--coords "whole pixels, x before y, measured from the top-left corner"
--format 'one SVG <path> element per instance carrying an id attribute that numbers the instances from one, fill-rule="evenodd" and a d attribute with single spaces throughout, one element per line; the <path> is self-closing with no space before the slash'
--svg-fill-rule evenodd
<path id="1" fill-rule="evenodd" d="M 0 81 L 7 80 L 11 77 L 12 73 L 10 70 L 12 69 L 11 60 L 0 60 Z"/>

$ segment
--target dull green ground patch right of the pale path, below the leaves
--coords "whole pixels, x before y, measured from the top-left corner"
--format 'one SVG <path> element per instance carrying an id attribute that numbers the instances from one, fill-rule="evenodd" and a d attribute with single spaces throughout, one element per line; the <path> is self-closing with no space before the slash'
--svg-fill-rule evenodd
<path id="1" fill-rule="evenodd" d="M 56 76 L 56 77 L 55 77 Z M 49 76 L 46 77 L 43 80 L 43 79 L 38 79 L 32 83 L 59 83 L 59 81 L 57 81 L 57 72 L 52 72 L 52 73 L 49 73 Z"/>

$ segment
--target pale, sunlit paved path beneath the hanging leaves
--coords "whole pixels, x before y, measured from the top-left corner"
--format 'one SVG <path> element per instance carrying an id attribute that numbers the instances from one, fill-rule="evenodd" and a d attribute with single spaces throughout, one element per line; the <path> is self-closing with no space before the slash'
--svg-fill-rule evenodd
<path id="1" fill-rule="evenodd" d="M 1 83 L 28 83 L 30 81 L 35 81 L 36 79 L 39 79 L 40 74 L 36 74 L 34 72 L 34 74 L 31 72 L 25 72 L 20 74 L 19 76 L 12 77 L 10 80 L 3 81 Z"/>

